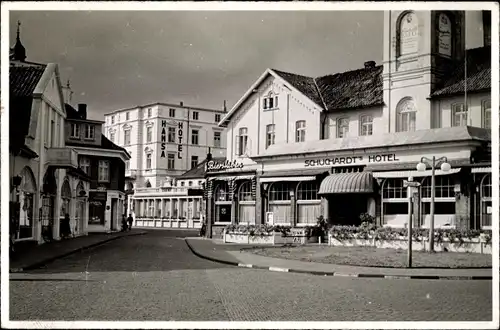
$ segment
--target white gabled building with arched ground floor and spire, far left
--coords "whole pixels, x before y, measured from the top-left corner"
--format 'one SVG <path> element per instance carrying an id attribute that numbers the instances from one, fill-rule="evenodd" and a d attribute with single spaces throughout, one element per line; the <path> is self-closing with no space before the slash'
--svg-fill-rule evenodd
<path id="1" fill-rule="evenodd" d="M 26 61 L 19 27 L 9 67 L 10 228 L 16 245 L 59 239 L 69 215 L 74 234 L 78 192 L 89 178 L 65 145 L 66 113 L 57 64 Z M 22 250 L 22 249 L 21 249 Z"/>

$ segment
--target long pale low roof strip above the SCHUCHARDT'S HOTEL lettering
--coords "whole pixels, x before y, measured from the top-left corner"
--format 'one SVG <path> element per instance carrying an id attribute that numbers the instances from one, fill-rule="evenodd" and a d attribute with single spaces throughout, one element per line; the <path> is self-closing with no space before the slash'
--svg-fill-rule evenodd
<path id="1" fill-rule="evenodd" d="M 418 145 L 425 143 L 444 143 L 458 141 L 491 141 L 491 130 L 462 126 L 447 127 L 414 132 L 386 133 L 370 136 L 350 136 L 342 139 L 325 139 L 300 143 L 283 143 L 269 146 L 261 155 L 252 159 L 294 154 L 308 154 L 327 151 L 345 151 L 353 149 L 382 148 Z"/>

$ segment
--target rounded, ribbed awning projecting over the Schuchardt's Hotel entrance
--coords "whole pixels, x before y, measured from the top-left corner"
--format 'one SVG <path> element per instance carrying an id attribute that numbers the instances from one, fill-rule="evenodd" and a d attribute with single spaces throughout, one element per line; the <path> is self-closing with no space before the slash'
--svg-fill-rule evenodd
<path id="1" fill-rule="evenodd" d="M 321 182 L 318 194 L 372 193 L 371 172 L 330 174 Z"/>

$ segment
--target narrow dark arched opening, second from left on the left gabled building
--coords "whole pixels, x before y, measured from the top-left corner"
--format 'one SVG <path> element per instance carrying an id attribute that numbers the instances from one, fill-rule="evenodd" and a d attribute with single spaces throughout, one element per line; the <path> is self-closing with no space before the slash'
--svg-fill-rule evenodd
<path id="1" fill-rule="evenodd" d="M 42 238 L 45 241 L 51 241 L 54 237 L 54 207 L 56 195 L 57 184 L 55 170 L 53 168 L 49 168 L 43 177 L 42 206 L 40 207 Z"/>

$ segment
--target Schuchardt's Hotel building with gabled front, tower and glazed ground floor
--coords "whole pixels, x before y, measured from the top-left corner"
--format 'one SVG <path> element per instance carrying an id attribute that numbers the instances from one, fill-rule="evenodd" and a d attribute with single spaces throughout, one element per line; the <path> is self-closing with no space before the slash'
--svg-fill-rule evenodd
<path id="1" fill-rule="evenodd" d="M 227 159 L 208 164 L 207 230 L 306 226 L 323 215 L 405 226 L 404 180 L 420 184 L 416 226 L 491 228 L 491 47 L 465 49 L 460 11 L 388 11 L 383 65 L 312 78 L 268 69 L 221 121 Z M 478 27 L 481 28 L 481 27 Z M 210 228 L 211 227 L 211 228 Z"/>

